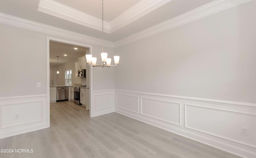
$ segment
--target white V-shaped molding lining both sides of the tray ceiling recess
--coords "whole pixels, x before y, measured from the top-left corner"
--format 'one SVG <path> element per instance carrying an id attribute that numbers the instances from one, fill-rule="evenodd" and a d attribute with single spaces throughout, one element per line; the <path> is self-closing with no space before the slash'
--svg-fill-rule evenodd
<path id="1" fill-rule="evenodd" d="M 112 21 L 104 21 L 104 32 L 112 33 L 170 1 L 171 0 L 141 0 Z M 54 0 L 40 0 L 38 11 L 102 31 L 101 19 L 65 6 Z"/>

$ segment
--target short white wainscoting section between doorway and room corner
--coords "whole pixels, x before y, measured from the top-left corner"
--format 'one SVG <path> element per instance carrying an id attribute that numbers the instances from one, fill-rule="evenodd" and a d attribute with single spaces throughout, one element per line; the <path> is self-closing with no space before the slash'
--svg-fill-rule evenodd
<path id="1" fill-rule="evenodd" d="M 92 92 L 91 117 L 115 111 L 115 90 L 98 90 Z"/>

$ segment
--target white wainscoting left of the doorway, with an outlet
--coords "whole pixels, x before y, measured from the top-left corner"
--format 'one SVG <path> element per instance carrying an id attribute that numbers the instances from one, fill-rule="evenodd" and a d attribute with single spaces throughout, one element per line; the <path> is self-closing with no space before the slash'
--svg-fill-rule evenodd
<path id="1" fill-rule="evenodd" d="M 47 95 L 0 98 L 0 138 L 50 127 Z"/>

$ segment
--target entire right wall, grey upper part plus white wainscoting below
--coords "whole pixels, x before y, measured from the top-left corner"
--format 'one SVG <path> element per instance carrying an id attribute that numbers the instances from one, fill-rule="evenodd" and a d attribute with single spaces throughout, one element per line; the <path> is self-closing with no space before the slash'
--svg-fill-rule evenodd
<path id="1" fill-rule="evenodd" d="M 115 48 L 115 111 L 255 157 L 255 8 L 250 1 Z"/>

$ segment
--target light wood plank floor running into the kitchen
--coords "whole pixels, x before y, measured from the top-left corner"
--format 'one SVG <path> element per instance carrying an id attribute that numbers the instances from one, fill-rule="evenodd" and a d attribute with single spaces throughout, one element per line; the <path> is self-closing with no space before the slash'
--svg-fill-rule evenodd
<path id="1" fill-rule="evenodd" d="M 0 139 L 0 158 L 239 158 L 135 119 L 110 113 L 89 118 L 71 101 L 51 103 L 50 128 Z"/>

